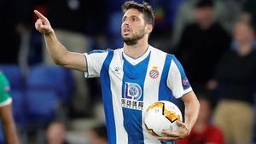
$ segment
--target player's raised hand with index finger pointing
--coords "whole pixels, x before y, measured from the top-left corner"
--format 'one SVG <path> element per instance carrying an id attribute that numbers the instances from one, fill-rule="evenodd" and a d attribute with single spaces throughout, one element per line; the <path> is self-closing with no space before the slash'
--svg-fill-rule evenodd
<path id="1" fill-rule="evenodd" d="M 49 24 L 49 20 L 47 18 L 38 12 L 38 10 L 34 10 L 34 13 L 37 14 L 38 20 L 35 23 L 35 27 L 38 30 L 38 32 L 41 32 L 43 34 L 49 34 L 51 32 L 54 32 L 52 27 Z"/>

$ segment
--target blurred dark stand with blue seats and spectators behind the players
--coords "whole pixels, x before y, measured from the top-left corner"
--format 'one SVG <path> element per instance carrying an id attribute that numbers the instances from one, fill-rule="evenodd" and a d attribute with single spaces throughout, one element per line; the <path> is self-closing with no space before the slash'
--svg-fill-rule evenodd
<path id="1" fill-rule="evenodd" d="M 67 49 L 85 53 L 122 48 L 124 2 L 0 1 L 0 70 L 11 85 L 21 144 L 58 144 L 61 140 L 93 144 L 93 140 L 104 143 L 106 138 L 106 134 L 97 133 L 105 130 L 99 79 L 85 79 L 82 72 L 56 66 L 50 60 L 44 37 L 34 28 L 37 17 L 33 10 L 38 9 L 49 19 Z M 149 43 L 181 61 L 196 94 L 210 101 L 210 123 L 218 126 L 225 141 L 247 144 L 246 140 L 235 140 L 237 135 L 244 137 L 241 131 L 247 130 L 248 139 L 256 143 L 256 1 L 145 2 L 152 5 L 155 14 Z M 233 109 L 227 108 L 230 103 Z M 225 119 L 223 109 L 232 115 L 245 114 L 234 118 L 234 125 L 228 125 L 232 120 Z M 240 124 L 248 125 L 239 127 L 236 134 L 229 133 L 229 129 Z M 58 138 L 61 140 L 54 140 Z"/>

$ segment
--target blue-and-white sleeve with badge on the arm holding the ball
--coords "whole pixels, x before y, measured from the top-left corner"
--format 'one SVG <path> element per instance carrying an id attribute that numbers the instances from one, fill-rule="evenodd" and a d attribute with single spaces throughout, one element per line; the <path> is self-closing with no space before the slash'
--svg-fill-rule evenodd
<path id="1" fill-rule="evenodd" d="M 192 88 L 183 70 L 183 66 L 174 55 L 171 56 L 172 60 L 168 73 L 167 86 L 172 90 L 172 95 L 174 95 L 175 98 L 180 98 L 192 91 Z"/>

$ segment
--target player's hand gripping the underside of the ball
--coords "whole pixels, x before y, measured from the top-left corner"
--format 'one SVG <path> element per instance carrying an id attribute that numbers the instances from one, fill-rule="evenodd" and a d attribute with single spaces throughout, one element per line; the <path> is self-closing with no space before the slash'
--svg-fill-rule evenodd
<path id="1" fill-rule="evenodd" d="M 177 141 L 189 135 L 190 130 L 186 124 L 177 120 L 178 129 L 176 131 L 163 130 L 162 134 L 166 135 L 164 137 L 159 137 L 159 141 Z"/>

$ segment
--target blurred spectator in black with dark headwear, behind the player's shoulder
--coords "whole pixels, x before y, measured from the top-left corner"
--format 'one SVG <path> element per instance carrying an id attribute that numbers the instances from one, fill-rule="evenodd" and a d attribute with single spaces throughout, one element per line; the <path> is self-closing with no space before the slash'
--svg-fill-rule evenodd
<path id="1" fill-rule="evenodd" d="M 230 46 L 230 35 L 213 20 L 213 4 L 196 3 L 195 23 L 185 27 L 176 52 L 195 91 L 207 90 L 219 57 Z"/>

